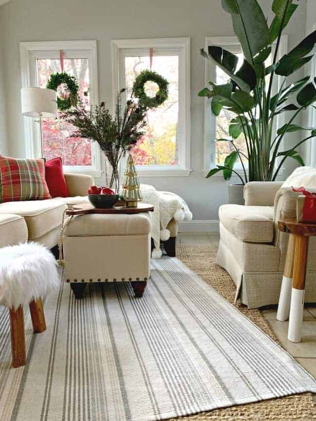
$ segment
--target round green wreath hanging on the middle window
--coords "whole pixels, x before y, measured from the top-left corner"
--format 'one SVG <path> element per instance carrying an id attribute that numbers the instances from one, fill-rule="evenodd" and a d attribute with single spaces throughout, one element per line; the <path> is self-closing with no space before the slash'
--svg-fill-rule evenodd
<path id="1" fill-rule="evenodd" d="M 145 93 L 144 85 L 146 82 L 155 82 L 159 86 L 159 90 L 155 97 L 150 98 Z M 168 98 L 168 81 L 158 73 L 151 70 L 143 70 L 137 76 L 133 91 L 134 95 L 140 100 L 140 104 L 147 108 L 156 108 Z"/>

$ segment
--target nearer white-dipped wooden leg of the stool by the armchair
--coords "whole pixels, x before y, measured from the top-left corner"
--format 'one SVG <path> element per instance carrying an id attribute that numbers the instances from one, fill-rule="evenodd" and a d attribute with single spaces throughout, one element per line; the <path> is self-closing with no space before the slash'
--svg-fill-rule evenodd
<path id="1" fill-rule="evenodd" d="M 287 336 L 291 342 L 300 342 L 301 339 L 308 240 L 308 236 L 297 236 L 296 240 L 291 309 Z"/>

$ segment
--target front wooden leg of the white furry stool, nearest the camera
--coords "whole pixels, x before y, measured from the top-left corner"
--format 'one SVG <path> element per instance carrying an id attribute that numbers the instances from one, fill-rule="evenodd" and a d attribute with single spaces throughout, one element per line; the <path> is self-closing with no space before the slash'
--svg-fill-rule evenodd
<path id="1" fill-rule="evenodd" d="M 10 308 L 11 326 L 11 351 L 12 366 L 14 368 L 25 366 L 25 334 L 24 334 L 24 314 L 20 305 L 17 310 Z"/>

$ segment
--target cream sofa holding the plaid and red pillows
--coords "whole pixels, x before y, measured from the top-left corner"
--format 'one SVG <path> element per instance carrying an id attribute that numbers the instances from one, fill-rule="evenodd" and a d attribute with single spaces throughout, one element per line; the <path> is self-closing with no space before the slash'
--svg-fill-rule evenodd
<path id="1" fill-rule="evenodd" d="M 65 179 L 68 198 L 0 203 L 0 247 L 27 240 L 51 249 L 57 245 L 66 203 L 86 202 L 93 184 L 93 177 L 84 174 L 66 173 Z"/>

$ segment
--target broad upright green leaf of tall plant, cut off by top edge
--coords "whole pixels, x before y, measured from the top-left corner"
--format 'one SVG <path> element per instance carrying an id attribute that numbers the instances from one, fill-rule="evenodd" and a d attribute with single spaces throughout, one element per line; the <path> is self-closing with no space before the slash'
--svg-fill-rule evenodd
<path id="1" fill-rule="evenodd" d="M 231 3 L 231 6 L 229 13 L 234 32 L 240 41 L 246 60 L 252 63 L 253 57 L 268 45 L 269 28 L 265 16 L 257 0 L 235 0 L 235 5 Z"/>

